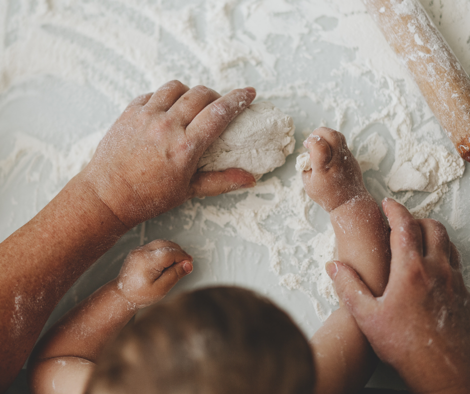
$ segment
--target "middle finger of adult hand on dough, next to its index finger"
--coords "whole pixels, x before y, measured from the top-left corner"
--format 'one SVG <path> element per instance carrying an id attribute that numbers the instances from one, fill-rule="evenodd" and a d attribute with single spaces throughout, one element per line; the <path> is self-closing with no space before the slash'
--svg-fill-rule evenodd
<path id="1" fill-rule="evenodd" d="M 198 85 L 185 92 L 167 113 L 186 127 L 202 109 L 219 97 L 215 90 Z"/>

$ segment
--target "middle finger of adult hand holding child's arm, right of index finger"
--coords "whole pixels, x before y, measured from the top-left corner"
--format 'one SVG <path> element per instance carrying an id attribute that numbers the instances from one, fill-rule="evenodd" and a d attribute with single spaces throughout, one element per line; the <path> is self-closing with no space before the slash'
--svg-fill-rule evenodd
<path id="1" fill-rule="evenodd" d="M 450 239 L 444 225 L 434 219 L 417 220 L 421 227 L 422 254 L 426 256 L 450 256 Z"/>

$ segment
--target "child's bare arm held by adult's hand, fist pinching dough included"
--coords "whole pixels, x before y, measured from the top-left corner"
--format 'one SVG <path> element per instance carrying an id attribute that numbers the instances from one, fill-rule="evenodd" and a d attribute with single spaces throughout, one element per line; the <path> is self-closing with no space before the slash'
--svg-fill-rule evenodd
<path id="1" fill-rule="evenodd" d="M 380 209 L 366 190 L 360 167 L 344 136 L 320 127 L 304 141 L 312 169 L 302 173 L 305 191 L 329 212 L 338 259 L 347 261 L 380 295 L 389 273 L 389 233 Z M 339 307 L 311 339 L 315 392 L 356 392 L 369 379 L 377 358 L 355 320 Z"/>

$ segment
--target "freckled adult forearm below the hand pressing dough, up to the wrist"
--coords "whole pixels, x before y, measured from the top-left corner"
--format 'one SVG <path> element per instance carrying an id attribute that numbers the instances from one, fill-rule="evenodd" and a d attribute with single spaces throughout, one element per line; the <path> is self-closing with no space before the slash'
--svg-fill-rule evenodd
<path id="1" fill-rule="evenodd" d="M 0 391 L 66 290 L 127 229 L 78 174 L 0 244 Z"/>

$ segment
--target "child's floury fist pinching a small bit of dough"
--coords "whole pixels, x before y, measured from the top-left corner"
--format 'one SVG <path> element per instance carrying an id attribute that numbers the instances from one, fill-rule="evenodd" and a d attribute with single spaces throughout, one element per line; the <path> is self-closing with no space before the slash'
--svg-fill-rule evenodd
<path id="1" fill-rule="evenodd" d="M 327 212 L 367 193 L 357 160 L 344 135 L 327 127 L 315 129 L 303 141 L 310 150 L 311 169 L 302 178 L 308 196 Z"/>

